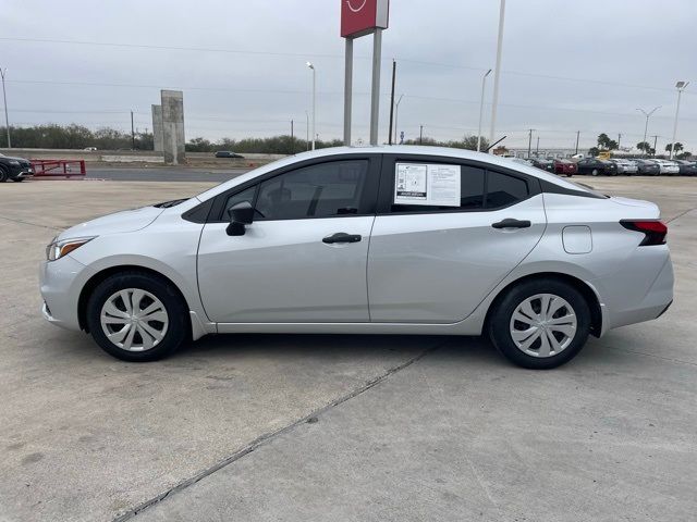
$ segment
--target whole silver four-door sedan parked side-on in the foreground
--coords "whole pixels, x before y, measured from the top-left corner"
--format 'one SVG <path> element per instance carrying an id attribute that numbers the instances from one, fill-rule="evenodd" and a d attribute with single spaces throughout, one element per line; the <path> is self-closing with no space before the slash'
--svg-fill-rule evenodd
<path id="1" fill-rule="evenodd" d="M 206 334 L 486 334 L 546 369 L 667 310 L 667 232 L 653 203 L 509 159 L 323 149 L 69 228 L 40 289 L 127 361 Z"/>

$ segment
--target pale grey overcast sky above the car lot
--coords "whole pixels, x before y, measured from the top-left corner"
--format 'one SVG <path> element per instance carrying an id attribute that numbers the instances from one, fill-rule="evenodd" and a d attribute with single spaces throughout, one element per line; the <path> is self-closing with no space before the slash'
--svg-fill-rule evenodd
<path id="1" fill-rule="evenodd" d="M 159 90 L 184 91 L 186 139 L 304 138 L 317 70 L 317 134 L 341 138 L 345 0 L 0 0 L 10 123 L 151 129 Z M 482 74 L 494 66 L 500 0 L 392 0 L 383 32 L 380 140 L 396 60 L 399 130 L 476 135 Z M 696 0 L 508 0 L 496 136 L 509 147 L 621 145 L 648 135 L 697 152 Z M 355 42 L 353 138 L 368 141 L 372 37 Z M 492 75 L 486 90 L 489 134 Z"/>

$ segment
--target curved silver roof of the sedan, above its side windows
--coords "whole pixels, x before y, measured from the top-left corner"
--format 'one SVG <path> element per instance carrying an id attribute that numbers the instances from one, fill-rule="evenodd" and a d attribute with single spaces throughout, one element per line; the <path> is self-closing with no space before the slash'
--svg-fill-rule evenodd
<path id="1" fill-rule="evenodd" d="M 453 158 L 457 160 L 478 161 L 481 163 L 488 163 L 493 166 L 501 166 L 503 169 L 517 171 L 523 174 L 527 174 L 527 175 L 537 177 L 539 179 L 543 179 L 546 182 L 552 183 L 554 185 L 559 185 L 561 187 L 564 187 L 571 190 L 575 190 L 575 191 L 586 190 L 576 184 L 562 179 L 555 174 L 547 173 L 533 165 L 526 165 L 516 161 L 512 161 L 511 158 L 501 158 L 501 157 L 489 154 L 486 152 L 476 152 L 473 150 L 455 149 L 451 147 L 431 147 L 431 146 L 418 146 L 418 145 L 380 145 L 380 146 L 368 146 L 368 147 L 331 147 L 331 148 L 325 148 L 325 149 L 310 150 L 307 152 L 301 152 L 294 156 L 289 156 L 281 160 L 277 160 L 272 163 L 268 163 L 266 165 L 259 166 L 258 169 L 255 169 L 246 174 L 243 174 L 233 179 L 230 179 L 229 182 L 224 182 L 218 185 L 217 187 L 206 190 L 205 192 L 200 194 L 197 197 L 201 201 L 205 201 L 211 197 L 217 196 L 218 194 L 221 194 L 230 188 L 233 188 L 236 185 L 245 183 L 257 176 L 264 175 L 268 172 L 276 171 L 277 169 L 282 169 L 284 166 L 293 165 L 294 163 L 298 163 L 301 161 L 321 159 L 321 158 L 331 158 L 333 156 L 350 156 L 350 154 L 425 156 L 425 157 L 441 157 L 441 158 Z"/>

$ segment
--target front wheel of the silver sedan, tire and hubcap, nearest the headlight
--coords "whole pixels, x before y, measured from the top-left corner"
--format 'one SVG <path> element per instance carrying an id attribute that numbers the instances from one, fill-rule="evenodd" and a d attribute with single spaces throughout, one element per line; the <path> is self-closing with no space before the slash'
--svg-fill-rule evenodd
<path id="1" fill-rule="evenodd" d="M 107 277 L 87 301 L 87 325 L 108 353 L 124 361 L 155 361 L 188 336 L 188 313 L 176 289 L 143 272 Z"/>

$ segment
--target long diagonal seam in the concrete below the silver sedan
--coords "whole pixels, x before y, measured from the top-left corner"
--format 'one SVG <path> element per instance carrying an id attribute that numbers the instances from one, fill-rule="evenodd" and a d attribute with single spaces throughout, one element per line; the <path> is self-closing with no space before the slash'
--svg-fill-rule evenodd
<path id="1" fill-rule="evenodd" d="M 351 391 L 350 394 L 346 394 L 338 399 L 332 400 L 331 402 L 322 406 L 321 408 L 313 411 L 311 413 L 303 417 L 302 419 L 298 419 L 294 422 L 292 422 L 291 424 L 288 424 L 286 426 L 280 427 L 279 430 L 274 430 L 272 432 L 268 432 L 265 433 L 260 436 L 258 436 L 257 438 L 255 438 L 254 440 L 252 440 L 249 444 L 247 444 L 245 447 L 243 447 L 242 449 L 239 449 L 237 451 L 235 451 L 234 453 L 232 453 L 229 457 L 225 457 L 224 459 L 222 459 L 221 461 L 215 463 L 213 465 L 211 465 L 210 468 L 205 469 L 204 471 L 195 474 L 194 476 L 191 476 L 182 482 L 180 482 L 179 484 L 176 484 L 175 486 L 167 489 L 166 492 L 148 499 L 145 500 L 144 502 L 140 502 L 138 506 L 136 506 L 135 508 L 126 511 L 125 513 L 117 517 L 115 519 L 112 520 L 112 522 L 125 522 L 127 520 L 132 520 L 134 517 L 136 517 L 138 513 L 143 512 L 144 510 L 161 502 L 162 500 L 164 500 L 167 497 L 169 497 L 170 495 L 174 495 L 179 492 L 182 492 L 184 489 L 186 489 L 189 486 L 193 486 L 194 484 L 196 484 L 197 482 L 201 481 L 203 478 L 206 478 L 209 475 L 212 475 L 213 473 L 216 473 L 217 471 L 222 470 L 223 468 L 232 464 L 233 462 L 242 459 L 243 457 L 245 457 L 246 455 L 249 455 L 252 451 L 254 451 L 255 449 L 257 449 L 258 447 L 273 440 L 274 438 L 277 438 L 280 435 L 283 435 L 285 433 L 289 433 L 291 431 L 293 431 L 295 427 L 297 427 L 301 424 L 304 424 L 306 422 L 316 422 L 316 418 L 320 414 L 322 414 L 323 412 L 335 408 L 340 405 L 342 405 L 343 402 L 346 402 L 355 397 L 358 397 L 359 395 L 368 391 L 370 388 L 377 386 L 378 384 L 382 383 L 383 381 L 386 381 L 388 377 L 390 377 L 391 375 L 394 375 L 395 373 L 401 372 L 402 370 L 411 366 L 412 364 L 414 364 L 415 362 L 418 362 L 419 360 L 421 360 L 424 357 L 426 357 L 427 355 L 436 351 L 437 349 L 439 349 L 440 347 L 442 347 L 447 341 L 442 341 L 442 343 L 438 343 L 429 348 L 426 348 L 425 350 L 421 350 L 418 355 L 416 355 L 415 357 L 408 359 L 407 361 L 403 362 L 402 364 L 398 364 L 396 366 L 392 366 L 390 369 L 388 369 L 384 373 L 380 374 L 379 376 L 368 381 L 367 383 L 365 383 L 363 386 L 354 389 L 353 391 Z"/>

